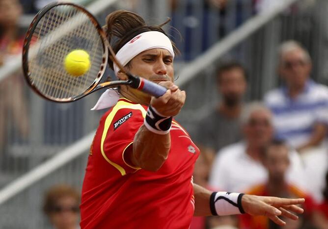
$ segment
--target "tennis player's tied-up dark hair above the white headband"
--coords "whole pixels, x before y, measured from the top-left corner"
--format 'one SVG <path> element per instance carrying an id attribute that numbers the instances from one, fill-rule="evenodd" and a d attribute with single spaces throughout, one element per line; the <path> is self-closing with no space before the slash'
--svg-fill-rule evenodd
<path id="1" fill-rule="evenodd" d="M 106 29 L 109 44 L 111 44 L 113 51 L 117 53 L 128 41 L 140 33 L 159 31 L 167 36 L 162 26 L 169 21 L 167 20 L 161 25 L 147 25 L 140 15 L 126 10 L 117 10 L 106 17 L 106 26 L 104 28 Z M 179 53 L 173 42 L 172 46 L 174 52 Z M 111 60 L 109 60 L 109 66 L 111 69 L 113 68 Z"/>

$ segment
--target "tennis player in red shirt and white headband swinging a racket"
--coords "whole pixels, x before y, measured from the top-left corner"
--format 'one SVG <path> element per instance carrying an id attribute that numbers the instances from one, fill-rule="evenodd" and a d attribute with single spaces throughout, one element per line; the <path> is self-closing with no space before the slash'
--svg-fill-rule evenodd
<path id="1" fill-rule="evenodd" d="M 167 88 L 159 98 L 121 86 L 94 109 L 110 107 L 95 134 L 82 187 L 82 229 L 188 229 L 191 218 L 248 213 L 297 219 L 304 199 L 211 192 L 194 184 L 199 150 L 172 117 L 186 93 L 173 83 L 177 52 L 161 26 L 115 11 L 106 19 L 109 42 L 128 71 Z M 110 31 L 110 32 L 109 32 Z M 113 42 L 114 40 L 114 42 Z M 110 63 L 119 79 L 127 79 Z"/>

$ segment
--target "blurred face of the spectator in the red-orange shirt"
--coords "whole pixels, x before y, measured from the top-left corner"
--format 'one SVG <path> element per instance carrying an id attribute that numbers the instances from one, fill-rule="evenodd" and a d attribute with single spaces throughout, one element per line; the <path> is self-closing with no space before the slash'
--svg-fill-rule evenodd
<path id="1" fill-rule="evenodd" d="M 264 165 L 267 167 L 271 179 L 282 181 L 289 167 L 287 147 L 270 146 L 266 152 Z"/>

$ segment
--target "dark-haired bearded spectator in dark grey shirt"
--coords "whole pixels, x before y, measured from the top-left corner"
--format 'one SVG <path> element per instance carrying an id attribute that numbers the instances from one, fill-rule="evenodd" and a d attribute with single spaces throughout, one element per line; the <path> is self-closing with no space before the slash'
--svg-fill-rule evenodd
<path id="1" fill-rule="evenodd" d="M 239 116 L 246 92 L 246 70 L 237 62 L 222 64 L 216 74 L 221 101 L 197 124 L 193 134 L 200 151 L 211 164 L 216 153 L 224 146 L 241 139 Z"/>

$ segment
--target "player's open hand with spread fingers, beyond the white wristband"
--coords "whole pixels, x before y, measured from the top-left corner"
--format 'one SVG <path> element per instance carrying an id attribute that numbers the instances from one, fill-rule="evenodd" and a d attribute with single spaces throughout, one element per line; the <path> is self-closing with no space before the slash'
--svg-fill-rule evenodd
<path id="1" fill-rule="evenodd" d="M 250 215 L 264 215 L 269 217 L 277 225 L 284 226 L 286 223 L 278 216 L 297 220 L 299 217 L 292 212 L 297 214 L 303 213 L 303 209 L 296 204 L 302 204 L 304 201 L 304 199 L 244 195 L 242 198 L 242 206 L 245 212 Z"/>

